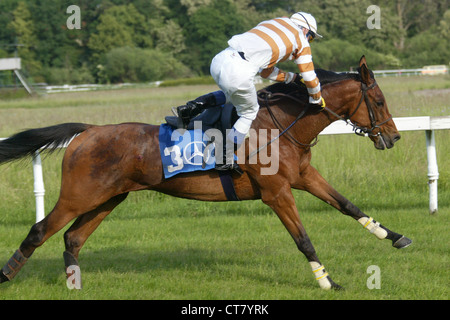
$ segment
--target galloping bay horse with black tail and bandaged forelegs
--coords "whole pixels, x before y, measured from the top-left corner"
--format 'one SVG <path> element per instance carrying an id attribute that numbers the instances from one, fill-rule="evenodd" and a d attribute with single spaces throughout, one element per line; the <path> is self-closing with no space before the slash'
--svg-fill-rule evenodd
<path id="1" fill-rule="evenodd" d="M 247 159 L 240 164 L 244 173 L 233 176 L 233 181 L 240 200 L 261 199 L 275 211 L 308 260 L 319 286 L 339 289 L 341 287 L 320 262 L 300 221 L 292 188 L 318 197 L 358 221 L 377 238 L 391 240 L 395 248 L 404 248 L 411 240 L 364 214 L 311 166 L 311 142 L 325 127 L 339 119 L 350 121 L 360 134 L 368 135 L 377 149 L 392 148 L 400 139 L 383 93 L 364 56 L 357 73 L 321 72 L 318 75 L 326 110 L 306 112 L 288 134 L 280 137 L 276 174 L 261 175 L 263 164 Z M 306 92 L 298 86 L 297 91 Z M 287 126 L 295 121 L 302 109 L 298 98 L 288 94 L 280 93 L 280 97 L 269 104 L 261 107 L 252 128 L 276 129 L 276 123 Z M 66 123 L 23 131 L 1 142 L 0 163 L 3 163 L 32 155 L 39 149 L 52 150 L 76 136 L 64 154 L 61 191 L 55 207 L 31 227 L 19 249 L 2 268 L 0 282 L 12 280 L 36 248 L 73 219 L 75 222 L 64 233 L 63 257 L 68 278 L 79 273 L 78 257 L 83 244 L 131 191 L 147 189 L 182 198 L 227 201 L 216 170 L 165 179 L 158 135 L 159 126 L 142 123 L 105 126 Z M 248 147 L 248 141 L 246 145 Z"/>

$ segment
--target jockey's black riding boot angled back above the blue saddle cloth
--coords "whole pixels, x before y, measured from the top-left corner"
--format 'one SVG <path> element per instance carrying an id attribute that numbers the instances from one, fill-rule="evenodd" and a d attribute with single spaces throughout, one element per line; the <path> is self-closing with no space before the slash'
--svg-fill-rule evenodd
<path id="1" fill-rule="evenodd" d="M 182 121 L 183 128 L 186 129 L 191 119 L 202 113 L 203 110 L 225 104 L 225 101 L 224 93 L 215 91 L 189 101 L 184 106 L 177 107 L 176 113 Z"/>

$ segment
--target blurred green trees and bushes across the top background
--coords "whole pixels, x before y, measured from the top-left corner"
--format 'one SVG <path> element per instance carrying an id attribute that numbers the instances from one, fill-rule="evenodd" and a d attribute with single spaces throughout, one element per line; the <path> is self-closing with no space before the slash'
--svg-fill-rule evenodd
<path id="1" fill-rule="evenodd" d="M 209 76 L 234 34 L 265 19 L 310 12 L 324 36 L 317 68 L 348 71 L 365 54 L 373 70 L 450 61 L 448 0 L 2 0 L 0 58 L 20 57 L 34 84 L 152 82 Z M 80 29 L 69 29 L 70 5 Z M 370 6 L 380 28 L 368 28 Z M 295 64 L 284 63 L 294 70 Z M 14 84 L 0 73 L 0 86 Z"/>

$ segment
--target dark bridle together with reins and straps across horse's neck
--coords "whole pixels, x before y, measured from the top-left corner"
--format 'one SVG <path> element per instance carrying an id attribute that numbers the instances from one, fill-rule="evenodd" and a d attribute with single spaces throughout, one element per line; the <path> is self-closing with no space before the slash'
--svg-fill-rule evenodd
<path id="1" fill-rule="evenodd" d="M 340 120 L 345 121 L 348 125 L 351 125 L 353 127 L 353 131 L 355 132 L 355 134 L 357 134 L 358 136 L 370 136 L 370 137 L 377 137 L 379 135 L 381 135 L 381 132 L 378 132 L 377 134 L 374 134 L 373 131 L 377 128 L 380 128 L 382 125 L 386 124 L 387 122 L 392 120 L 392 116 L 390 116 L 388 119 L 380 122 L 379 124 L 377 124 L 377 120 L 375 118 L 375 113 L 373 111 L 372 108 L 372 104 L 369 101 L 369 97 L 367 95 L 367 91 L 375 88 L 376 86 L 378 86 L 377 82 L 374 81 L 374 83 L 372 83 L 370 86 L 367 86 L 364 82 L 361 82 L 361 99 L 359 100 L 359 103 L 357 105 L 357 107 L 355 108 L 355 110 L 347 117 L 342 117 L 340 115 L 338 115 L 336 112 L 334 112 L 333 110 L 331 110 L 328 107 L 325 107 L 324 110 L 331 113 L 333 116 L 337 117 Z M 272 118 L 272 121 L 274 122 L 274 124 L 277 126 L 277 128 L 281 131 L 281 133 L 275 137 L 274 139 L 272 139 L 271 141 L 269 141 L 266 145 L 258 148 L 257 150 L 253 151 L 250 155 L 249 155 L 249 159 L 251 157 L 253 157 L 254 155 L 258 154 L 262 149 L 266 148 L 268 145 L 270 145 L 272 142 L 274 142 L 275 140 L 279 139 L 282 135 L 286 134 L 287 138 L 294 143 L 294 145 L 296 145 L 297 147 L 300 148 L 312 148 L 314 147 L 317 142 L 318 142 L 318 137 L 316 136 L 315 140 L 313 143 L 302 143 L 300 141 L 298 141 L 297 139 L 295 139 L 288 131 L 289 129 L 291 129 L 298 120 L 300 120 L 305 113 L 308 111 L 309 109 L 309 104 L 306 105 L 306 107 L 303 109 L 302 112 L 300 112 L 300 114 L 297 116 L 297 118 L 295 118 L 295 120 L 287 127 L 287 128 L 283 128 L 283 126 L 281 125 L 281 123 L 278 121 L 278 119 L 275 117 L 273 111 L 270 108 L 270 102 L 276 101 L 276 100 L 281 100 L 282 98 L 289 98 L 299 104 L 305 104 L 304 101 L 290 95 L 290 94 L 285 94 L 285 93 L 272 93 L 270 91 L 267 91 L 265 89 L 260 90 L 259 92 L 261 95 L 264 95 L 264 97 L 261 97 L 260 94 L 258 94 L 258 98 L 260 100 L 263 100 L 265 103 L 265 107 L 267 108 L 267 111 L 270 114 L 270 117 Z M 370 119 L 370 125 L 372 126 L 370 129 L 367 127 L 362 127 L 360 126 L 356 121 L 351 120 L 351 118 L 356 114 L 356 112 L 358 111 L 359 107 L 362 105 L 362 102 L 365 101 L 366 106 L 367 106 L 367 111 L 369 112 L 369 119 Z"/>

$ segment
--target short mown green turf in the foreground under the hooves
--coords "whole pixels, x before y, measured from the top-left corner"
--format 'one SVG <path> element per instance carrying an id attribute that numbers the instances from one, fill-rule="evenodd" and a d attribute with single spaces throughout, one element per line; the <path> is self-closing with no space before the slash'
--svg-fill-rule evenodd
<path id="1" fill-rule="evenodd" d="M 220 206 L 219 206 L 220 207 Z M 167 206 L 166 206 L 167 208 Z M 51 238 L 36 251 L 11 283 L 7 299 L 447 299 L 445 216 L 427 217 L 420 209 L 379 210 L 377 217 L 407 231 L 414 246 L 393 249 L 336 212 L 302 212 L 311 239 L 330 275 L 344 292 L 317 288 L 305 259 L 267 210 L 250 215 L 209 214 L 180 209 L 167 216 L 122 219 L 124 208 L 107 219 L 83 249 L 84 289 L 64 286 L 62 239 Z M 169 212 L 167 212 L 169 211 Z M 157 213 L 156 213 L 157 215 Z M 404 219 L 407 217 L 407 219 Z M 421 230 L 416 227 L 420 224 Z M 26 226 L 2 227 L 14 248 Z M 186 230 L 189 230 L 188 232 Z M 214 230 L 214 232 L 212 232 Z M 22 234 L 21 234 L 22 233 Z M 327 234 L 327 236 L 324 236 Z M 436 236 L 440 235 L 440 236 Z M 431 249 L 431 250 L 430 250 Z M 2 250 L 5 258 L 13 250 Z M 432 262 L 432 263 L 430 263 Z M 366 287 L 367 268 L 381 269 L 381 290 Z"/>

